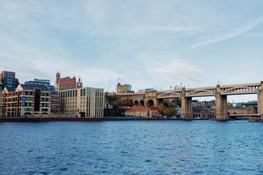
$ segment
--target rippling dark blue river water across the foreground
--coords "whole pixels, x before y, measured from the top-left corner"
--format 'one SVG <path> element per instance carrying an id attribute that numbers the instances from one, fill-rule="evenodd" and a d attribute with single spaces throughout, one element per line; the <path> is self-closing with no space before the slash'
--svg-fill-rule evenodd
<path id="1" fill-rule="evenodd" d="M 0 123 L 0 174 L 263 174 L 263 123 Z"/>

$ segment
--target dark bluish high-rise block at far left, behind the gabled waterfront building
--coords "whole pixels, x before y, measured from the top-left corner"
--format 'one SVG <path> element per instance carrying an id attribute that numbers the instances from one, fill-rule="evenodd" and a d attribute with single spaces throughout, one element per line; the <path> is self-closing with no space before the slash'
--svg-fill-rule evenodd
<path id="1" fill-rule="evenodd" d="M 1 83 L 3 88 L 7 88 L 10 91 L 15 90 L 19 84 L 19 80 L 15 78 L 15 72 L 2 71 L 1 72 Z"/>

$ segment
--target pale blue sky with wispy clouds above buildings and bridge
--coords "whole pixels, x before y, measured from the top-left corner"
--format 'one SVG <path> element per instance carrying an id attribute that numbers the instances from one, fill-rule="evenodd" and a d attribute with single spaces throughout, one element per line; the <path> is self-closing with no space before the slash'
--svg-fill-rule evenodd
<path id="1" fill-rule="evenodd" d="M 59 70 L 105 91 L 260 82 L 262 9 L 262 0 L 0 0 L 0 71 L 55 83 Z"/>

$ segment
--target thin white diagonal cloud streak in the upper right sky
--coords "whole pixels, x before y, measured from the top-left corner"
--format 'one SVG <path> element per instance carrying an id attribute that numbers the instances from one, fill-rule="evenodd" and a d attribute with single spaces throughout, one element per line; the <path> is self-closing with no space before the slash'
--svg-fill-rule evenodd
<path id="1" fill-rule="evenodd" d="M 190 48 L 199 48 L 199 47 L 207 46 L 209 44 L 215 44 L 217 42 L 222 42 L 222 41 L 225 41 L 227 39 L 231 39 L 233 37 L 237 37 L 238 35 L 241 35 L 242 33 L 246 33 L 248 30 L 251 30 L 252 28 L 261 24 L 262 22 L 263 22 L 263 19 L 258 19 L 256 21 L 253 21 L 249 24 L 242 26 L 241 28 L 237 28 L 235 30 L 232 30 L 232 31 L 230 31 L 230 33 L 220 35 L 218 37 L 215 37 L 214 39 L 208 39 L 205 41 L 197 42 L 197 43 L 193 44 L 192 46 L 190 46 Z"/>

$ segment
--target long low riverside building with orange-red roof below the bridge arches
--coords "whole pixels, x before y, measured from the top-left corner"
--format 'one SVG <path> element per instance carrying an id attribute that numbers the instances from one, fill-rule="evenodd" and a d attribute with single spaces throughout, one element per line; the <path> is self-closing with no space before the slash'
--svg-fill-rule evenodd
<path id="1" fill-rule="evenodd" d="M 125 110 L 125 116 L 133 116 L 133 117 L 142 117 L 142 118 L 152 118 L 156 116 L 160 116 L 157 110 L 151 110 L 146 107 L 130 107 Z"/>

